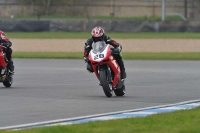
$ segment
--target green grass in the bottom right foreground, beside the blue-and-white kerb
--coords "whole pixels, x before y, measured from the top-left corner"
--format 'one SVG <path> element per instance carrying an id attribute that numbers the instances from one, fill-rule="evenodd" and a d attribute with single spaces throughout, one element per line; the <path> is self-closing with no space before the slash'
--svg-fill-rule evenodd
<path id="1" fill-rule="evenodd" d="M 35 128 L 14 133 L 199 133 L 200 107 L 147 117 Z M 6 133 L 6 131 L 0 131 Z M 7 132 L 7 133 L 10 133 Z"/>

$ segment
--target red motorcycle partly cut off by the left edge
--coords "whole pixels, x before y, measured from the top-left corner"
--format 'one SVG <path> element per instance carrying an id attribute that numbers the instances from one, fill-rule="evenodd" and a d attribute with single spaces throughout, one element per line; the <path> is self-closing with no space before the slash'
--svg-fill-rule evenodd
<path id="1" fill-rule="evenodd" d="M 13 82 L 12 73 L 7 69 L 7 58 L 5 57 L 5 53 L 3 49 L 5 47 L 0 45 L 0 82 L 3 82 L 5 87 L 10 87 Z"/>

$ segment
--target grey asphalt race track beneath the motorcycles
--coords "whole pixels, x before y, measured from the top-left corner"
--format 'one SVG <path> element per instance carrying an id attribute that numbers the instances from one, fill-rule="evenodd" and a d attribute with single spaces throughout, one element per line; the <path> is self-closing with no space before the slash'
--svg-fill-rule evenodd
<path id="1" fill-rule="evenodd" d="M 11 88 L 0 85 L 0 127 L 199 99 L 200 61 L 125 60 L 124 97 L 107 98 L 83 60 L 14 59 Z"/>

